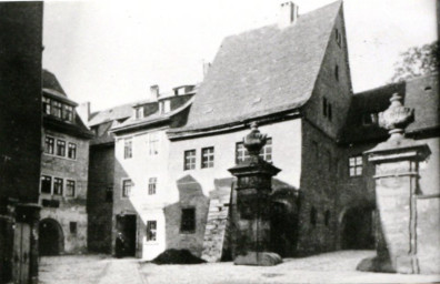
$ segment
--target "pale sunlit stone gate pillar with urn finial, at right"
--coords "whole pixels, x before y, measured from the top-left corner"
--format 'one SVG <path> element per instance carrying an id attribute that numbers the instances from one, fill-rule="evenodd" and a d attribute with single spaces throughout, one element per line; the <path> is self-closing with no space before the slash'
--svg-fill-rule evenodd
<path id="1" fill-rule="evenodd" d="M 389 262 L 391 271 L 417 274 L 420 272 L 417 247 L 419 163 L 429 156 L 430 150 L 427 144 L 403 136 L 404 128 L 413 120 L 413 111 L 404 108 L 400 100 L 393 94 L 390 108 L 379 116 L 380 125 L 390 132 L 389 140 L 366 152 L 369 162 L 376 165 L 376 201 L 384 241 L 377 247 L 374 270 L 390 270 L 384 267 Z"/>

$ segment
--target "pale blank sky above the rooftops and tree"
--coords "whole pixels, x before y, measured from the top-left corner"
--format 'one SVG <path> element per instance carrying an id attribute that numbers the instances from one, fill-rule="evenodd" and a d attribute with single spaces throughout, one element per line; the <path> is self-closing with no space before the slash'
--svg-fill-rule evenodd
<path id="1" fill-rule="evenodd" d="M 202 80 L 227 36 L 277 22 L 281 0 L 44 2 L 43 68 L 92 111 Z M 296 0 L 300 14 L 333 2 Z M 386 83 L 399 53 L 437 39 L 436 0 L 344 0 L 354 91 Z"/>

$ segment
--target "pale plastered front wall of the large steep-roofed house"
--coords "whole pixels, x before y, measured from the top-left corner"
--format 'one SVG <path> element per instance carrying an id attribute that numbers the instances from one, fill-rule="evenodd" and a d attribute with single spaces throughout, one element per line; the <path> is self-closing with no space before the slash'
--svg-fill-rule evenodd
<path id="1" fill-rule="evenodd" d="M 301 176 L 301 119 L 289 120 L 259 128 L 272 138 L 273 165 L 282 171 L 276 176 L 297 189 Z M 236 143 L 241 142 L 249 130 L 221 133 L 188 140 L 172 141 L 169 156 L 170 181 L 167 211 L 167 243 L 170 247 L 187 247 L 200 255 L 208 214 L 209 192 L 214 190 L 214 179 L 231 178 L 228 169 L 236 164 Z M 214 148 L 214 166 L 201 169 L 201 149 Z M 183 153 L 196 150 L 194 170 L 183 170 Z M 188 196 L 192 196 L 188 199 Z M 189 202 L 189 203 L 188 203 Z M 183 206 L 196 207 L 196 232 L 180 233 L 180 211 Z M 174 240 L 184 242 L 176 242 Z"/>

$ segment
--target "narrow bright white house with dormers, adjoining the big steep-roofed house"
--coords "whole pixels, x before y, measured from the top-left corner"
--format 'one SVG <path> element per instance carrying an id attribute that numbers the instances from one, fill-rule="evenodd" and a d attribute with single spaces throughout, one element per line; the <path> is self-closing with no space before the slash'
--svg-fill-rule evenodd
<path id="1" fill-rule="evenodd" d="M 152 260 L 166 248 L 169 148 L 166 131 L 186 124 L 196 85 L 171 93 L 151 87 L 151 100 L 132 104 L 132 115 L 110 129 L 114 135 L 112 244 L 117 255 Z M 124 246 L 117 247 L 121 234 Z"/>

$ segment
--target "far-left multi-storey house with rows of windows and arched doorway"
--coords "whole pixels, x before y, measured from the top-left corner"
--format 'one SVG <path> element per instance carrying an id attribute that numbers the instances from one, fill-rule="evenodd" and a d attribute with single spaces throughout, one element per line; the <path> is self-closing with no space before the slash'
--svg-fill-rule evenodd
<path id="1" fill-rule="evenodd" d="M 42 72 L 42 155 L 39 204 L 40 255 L 87 251 L 89 141 L 78 104 L 57 78 Z"/>

